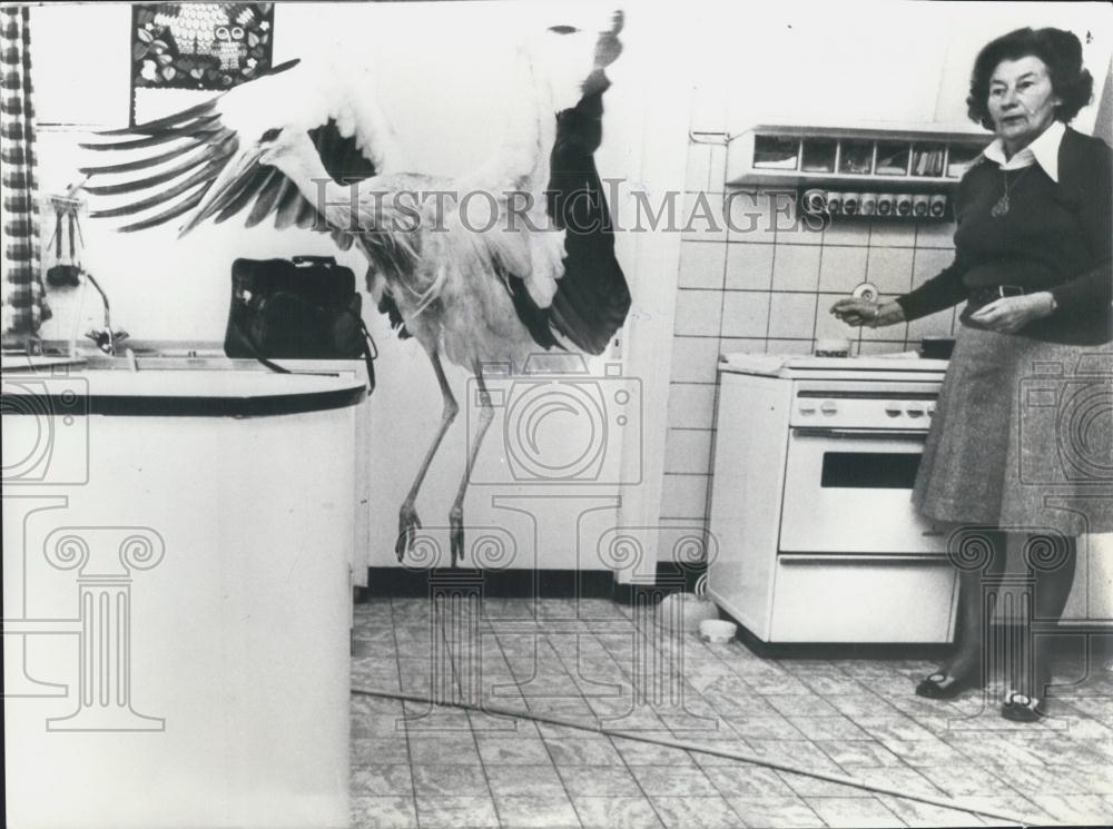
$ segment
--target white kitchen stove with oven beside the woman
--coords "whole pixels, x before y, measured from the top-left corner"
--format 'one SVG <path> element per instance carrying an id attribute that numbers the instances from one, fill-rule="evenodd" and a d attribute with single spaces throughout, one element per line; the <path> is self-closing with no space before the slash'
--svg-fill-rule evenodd
<path id="1" fill-rule="evenodd" d="M 719 365 L 709 563 L 767 642 L 946 642 L 947 534 L 910 503 L 946 361 L 735 354 Z"/>

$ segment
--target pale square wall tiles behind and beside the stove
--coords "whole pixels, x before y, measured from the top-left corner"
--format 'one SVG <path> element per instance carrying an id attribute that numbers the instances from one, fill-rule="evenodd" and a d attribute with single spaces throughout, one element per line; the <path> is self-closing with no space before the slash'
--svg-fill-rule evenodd
<path id="1" fill-rule="evenodd" d="M 788 190 L 728 189 L 725 168 L 725 147 L 690 144 L 662 524 L 706 521 L 720 354 L 808 354 L 831 337 L 851 339 L 855 354 L 900 352 L 955 325 L 951 309 L 856 332 L 828 313 L 860 282 L 892 297 L 937 274 L 954 254 L 953 223 L 855 218 L 810 230 L 796 220 Z"/>

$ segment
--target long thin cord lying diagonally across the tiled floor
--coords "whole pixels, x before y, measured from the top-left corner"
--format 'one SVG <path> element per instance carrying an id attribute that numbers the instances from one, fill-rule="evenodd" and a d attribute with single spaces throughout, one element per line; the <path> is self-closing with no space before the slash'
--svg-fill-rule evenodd
<path id="1" fill-rule="evenodd" d="M 637 731 L 622 731 L 620 729 L 610 729 L 601 724 L 591 724 L 588 722 L 580 722 L 577 720 L 567 720 L 563 717 L 550 717 L 548 714 L 536 714 L 529 711 L 520 711 L 512 708 L 502 708 L 501 705 L 473 705 L 466 702 L 444 702 L 436 701 L 431 697 L 425 697 L 421 694 L 401 693 L 398 691 L 386 691 L 374 688 L 353 688 L 352 693 L 361 697 L 380 697 L 382 699 L 390 700 L 401 700 L 403 702 L 421 702 L 430 705 L 440 705 L 443 708 L 457 708 L 464 711 L 475 711 L 477 713 L 494 714 L 496 717 L 515 717 L 521 720 L 530 720 L 532 722 L 543 722 L 548 726 L 561 726 L 563 728 L 577 729 L 580 731 L 590 731 L 592 733 L 605 734 L 608 737 L 619 737 L 623 740 L 636 740 L 638 742 L 648 742 L 653 746 L 664 746 L 667 748 L 681 749 L 683 751 L 698 751 L 703 754 L 711 754 L 712 757 L 721 757 L 728 760 L 740 760 L 741 762 L 748 762 L 754 766 L 762 766 L 767 769 L 777 769 L 778 771 L 787 771 L 792 774 L 802 774 L 804 777 L 816 778 L 817 780 L 826 780 L 827 782 L 838 783 L 840 786 L 849 786 L 855 789 L 861 789 L 864 791 L 874 792 L 876 795 L 889 795 L 896 798 L 904 798 L 905 800 L 915 800 L 920 803 L 928 803 L 930 806 L 939 806 L 944 809 L 955 809 L 957 811 L 969 812 L 973 815 L 983 815 L 989 818 L 998 818 L 1001 820 L 1006 820 L 1009 823 L 1016 823 L 1018 826 L 1025 826 L 1030 821 L 1020 816 L 1013 815 L 1006 810 L 998 809 L 987 809 L 982 806 L 967 806 L 961 800 L 953 800 L 949 798 L 936 798 L 930 795 L 919 795 L 915 792 L 902 791 L 900 789 L 890 788 L 887 786 L 877 786 L 875 783 L 867 783 L 861 780 L 856 780 L 851 777 L 841 777 L 839 774 L 828 774 L 825 771 L 814 771 L 811 769 L 800 768 L 798 766 L 791 766 L 789 763 L 777 762 L 776 760 L 768 760 L 755 754 L 748 754 L 742 751 L 728 751 L 726 749 L 715 748 L 712 746 L 699 744 L 695 742 L 686 742 L 683 740 L 670 740 L 662 737 L 648 737 L 641 734 Z"/>

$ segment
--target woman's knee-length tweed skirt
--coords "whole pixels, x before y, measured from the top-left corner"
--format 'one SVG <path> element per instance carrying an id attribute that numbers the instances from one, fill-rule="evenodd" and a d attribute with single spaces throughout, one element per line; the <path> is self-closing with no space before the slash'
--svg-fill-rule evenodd
<path id="1" fill-rule="evenodd" d="M 1113 531 L 1113 344 L 961 327 L 913 503 L 1007 532 Z"/>

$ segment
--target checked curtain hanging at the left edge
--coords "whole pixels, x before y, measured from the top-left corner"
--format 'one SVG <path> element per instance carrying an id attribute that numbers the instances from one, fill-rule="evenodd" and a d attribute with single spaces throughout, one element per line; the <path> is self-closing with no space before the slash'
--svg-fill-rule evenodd
<path id="1" fill-rule="evenodd" d="M 39 259 L 39 204 L 31 106 L 30 13 L 0 7 L 0 199 L 3 203 L 4 334 L 33 336 L 50 318 Z"/>

